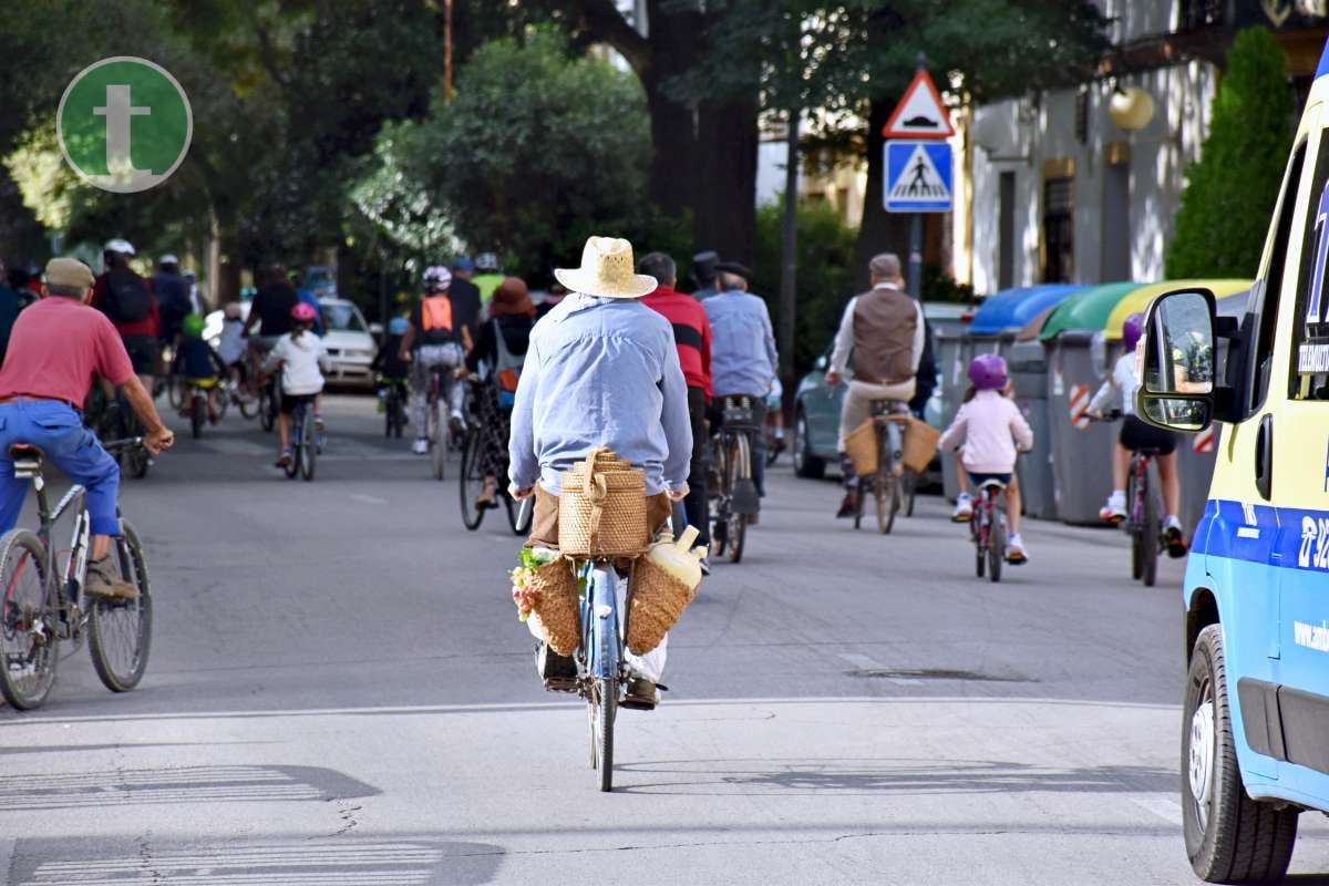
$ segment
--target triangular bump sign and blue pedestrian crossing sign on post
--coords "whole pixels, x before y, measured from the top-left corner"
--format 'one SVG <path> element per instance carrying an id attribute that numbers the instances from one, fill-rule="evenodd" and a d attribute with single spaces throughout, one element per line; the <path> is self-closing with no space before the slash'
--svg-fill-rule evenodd
<path id="1" fill-rule="evenodd" d="M 888 213 L 912 213 L 909 221 L 909 295 L 922 298 L 922 213 L 949 213 L 953 206 L 956 134 L 950 114 L 918 56 L 918 73 L 881 130 L 885 142 Z"/>

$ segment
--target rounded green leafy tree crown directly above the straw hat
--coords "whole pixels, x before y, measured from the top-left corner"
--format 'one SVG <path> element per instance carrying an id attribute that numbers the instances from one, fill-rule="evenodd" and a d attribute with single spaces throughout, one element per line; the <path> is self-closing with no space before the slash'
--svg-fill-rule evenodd
<path id="1" fill-rule="evenodd" d="M 449 105 L 385 135 L 400 169 L 380 189 L 384 217 L 420 222 L 445 210 L 474 251 L 529 276 L 575 262 L 591 234 L 641 239 L 668 230 L 647 206 L 650 132 L 639 84 L 607 62 L 573 57 L 536 32 L 493 41 L 457 78 Z"/>

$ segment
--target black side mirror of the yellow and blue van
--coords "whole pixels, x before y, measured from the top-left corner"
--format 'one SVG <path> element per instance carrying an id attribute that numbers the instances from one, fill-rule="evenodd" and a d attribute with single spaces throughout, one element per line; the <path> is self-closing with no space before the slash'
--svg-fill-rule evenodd
<path id="1" fill-rule="evenodd" d="M 1177 290 L 1150 304 L 1135 349 L 1140 418 L 1185 433 L 1204 430 L 1213 420 L 1216 313 L 1209 290 Z"/>

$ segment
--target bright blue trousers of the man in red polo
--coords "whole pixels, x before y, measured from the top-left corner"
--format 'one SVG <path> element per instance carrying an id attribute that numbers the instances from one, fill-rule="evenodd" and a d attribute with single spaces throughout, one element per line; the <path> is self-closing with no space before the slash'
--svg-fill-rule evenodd
<path id="1" fill-rule="evenodd" d="M 0 404 L 0 533 L 17 525 L 23 499 L 28 495 L 29 481 L 15 478 L 9 457 L 9 446 L 20 442 L 41 448 L 52 465 L 88 490 L 93 535 L 120 535 L 116 513 L 120 464 L 101 448 L 97 436 L 84 428 L 73 406 L 27 397 Z"/>

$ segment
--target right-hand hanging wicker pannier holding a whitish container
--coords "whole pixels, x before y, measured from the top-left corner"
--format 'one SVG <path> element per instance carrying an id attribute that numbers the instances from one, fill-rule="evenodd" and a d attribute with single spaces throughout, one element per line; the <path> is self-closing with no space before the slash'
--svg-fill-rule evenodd
<path id="1" fill-rule="evenodd" d="M 692 551 L 695 541 L 695 526 L 688 526 L 676 542 L 666 531 L 645 557 L 633 562 L 626 638 L 633 655 L 646 655 L 659 646 L 696 596 L 702 582 L 698 557 L 704 557 L 706 550 Z"/>

